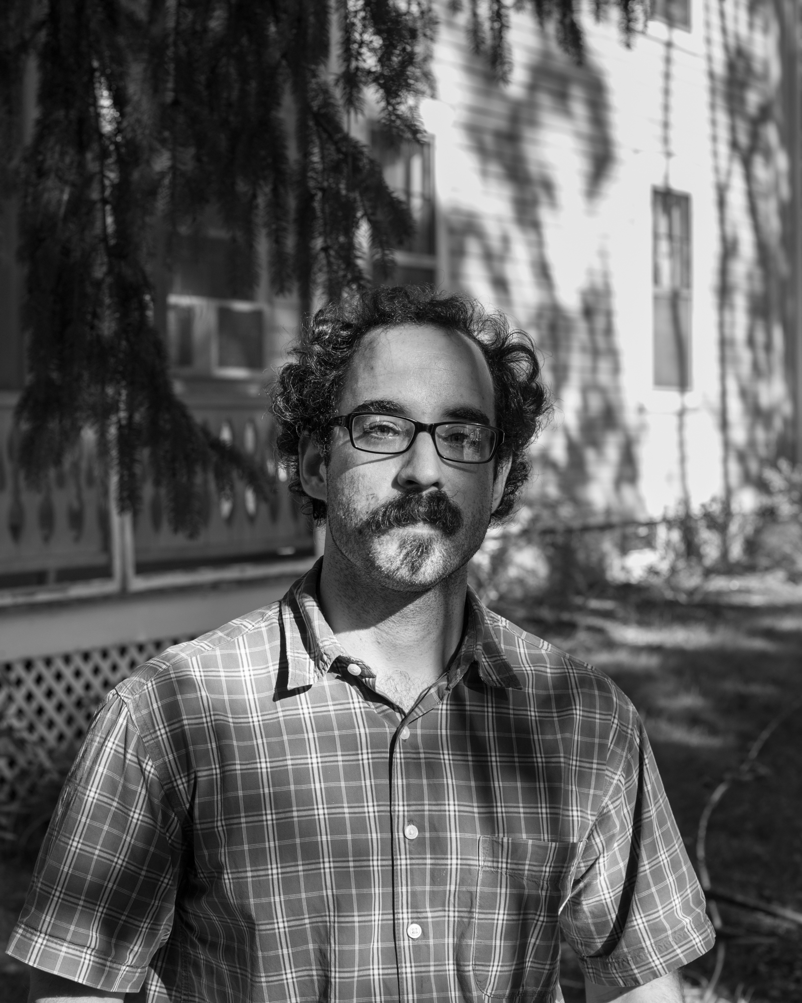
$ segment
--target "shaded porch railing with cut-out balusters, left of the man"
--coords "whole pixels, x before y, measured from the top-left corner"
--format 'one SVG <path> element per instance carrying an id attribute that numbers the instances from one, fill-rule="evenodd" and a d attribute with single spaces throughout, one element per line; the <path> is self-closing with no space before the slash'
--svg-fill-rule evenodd
<path id="1" fill-rule="evenodd" d="M 192 405 L 200 421 L 252 455 L 275 484 L 266 503 L 239 481 L 221 494 L 210 478 L 194 539 L 169 530 L 163 496 L 147 474 L 137 518 L 119 516 L 88 432 L 40 490 L 26 486 L 14 399 L 0 394 L 0 606 L 258 577 L 284 572 L 313 552 L 311 528 L 277 467 L 273 424 L 259 398 Z"/>

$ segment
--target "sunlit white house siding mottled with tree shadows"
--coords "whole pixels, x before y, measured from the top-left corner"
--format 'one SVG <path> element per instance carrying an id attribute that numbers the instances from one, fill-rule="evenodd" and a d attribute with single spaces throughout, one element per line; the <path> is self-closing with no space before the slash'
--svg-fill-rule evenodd
<path id="1" fill-rule="evenodd" d="M 453 111 L 436 134 L 446 274 L 545 355 L 557 417 L 534 448 L 532 498 L 643 518 L 738 495 L 787 445 L 793 412 L 775 8 L 696 0 L 692 31 L 652 23 L 630 48 L 614 17 L 588 15 L 582 66 L 513 14 L 506 85 L 470 51 L 465 17 L 441 5 L 435 48 Z M 653 385 L 656 188 L 692 204 L 686 393 Z"/>

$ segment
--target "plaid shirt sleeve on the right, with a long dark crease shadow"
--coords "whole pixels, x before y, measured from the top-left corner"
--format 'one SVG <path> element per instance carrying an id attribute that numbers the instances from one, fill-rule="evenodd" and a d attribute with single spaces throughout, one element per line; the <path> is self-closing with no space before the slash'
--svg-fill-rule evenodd
<path id="1" fill-rule="evenodd" d="M 715 941 L 643 723 L 633 723 L 560 914 L 585 976 L 600 985 L 643 985 Z"/>

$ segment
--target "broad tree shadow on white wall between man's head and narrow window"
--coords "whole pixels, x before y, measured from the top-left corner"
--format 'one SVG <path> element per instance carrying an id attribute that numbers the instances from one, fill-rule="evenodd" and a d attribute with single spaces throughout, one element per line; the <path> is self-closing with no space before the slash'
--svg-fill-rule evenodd
<path id="1" fill-rule="evenodd" d="M 638 516 L 637 428 L 622 388 L 609 269 L 593 237 L 615 161 L 608 89 L 589 55 L 576 66 L 547 40 L 538 44 L 527 84 L 514 92 L 466 56 L 482 101 L 467 112 L 465 138 L 482 187 L 505 195 L 508 216 L 490 226 L 478 211 L 452 214 L 452 274 L 470 287 L 471 269 L 481 268 L 495 305 L 546 356 L 558 420 L 537 449 L 531 490 L 570 499 L 577 516 Z"/>

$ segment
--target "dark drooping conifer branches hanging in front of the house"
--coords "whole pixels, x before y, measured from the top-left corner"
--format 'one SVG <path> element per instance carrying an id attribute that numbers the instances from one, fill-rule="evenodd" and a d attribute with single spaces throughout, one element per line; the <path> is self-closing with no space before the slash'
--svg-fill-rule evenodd
<path id="1" fill-rule="evenodd" d="M 615 2 L 629 37 L 639 0 Z M 256 277 L 267 237 L 271 284 L 296 289 L 302 311 L 316 291 L 336 299 L 364 285 L 366 256 L 386 272 L 411 219 L 348 120 L 370 93 L 388 130 L 419 137 L 434 5 L 3 0 L 0 183 L 20 205 L 28 376 L 17 419 L 29 480 L 91 426 L 123 512 L 139 507 L 144 455 L 176 531 L 199 529 L 210 471 L 222 489 L 240 475 L 270 490 L 174 393 L 157 277 L 169 274 L 175 235 L 212 212 L 240 274 Z M 466 3 L 473 47 L 499 79 L 509 10 L 521 6 Z M 574 0 L 529 6 L 581 58 Z M 23 147 L 15 123 L 32 65 L 38 113 Z"/>

